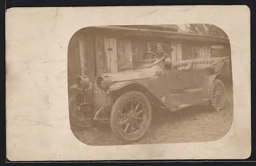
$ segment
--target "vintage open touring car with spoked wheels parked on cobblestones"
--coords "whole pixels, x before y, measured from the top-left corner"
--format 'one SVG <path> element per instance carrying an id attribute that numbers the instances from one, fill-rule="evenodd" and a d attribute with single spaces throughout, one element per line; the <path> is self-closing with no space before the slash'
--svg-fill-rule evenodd
<path id="1" fill-rule="evenodd" d="M 146 52 L 144 59 L 128 63 L 116 73 L 104 73 L 91 82 L 77 78 L 84 103 L 70 113 L 72 123 L 86 126 L 88 118 L 111 125 L 118 139 L 129 144 L 142 139 L 152 122 L 155 106 L 169 111 L 206 104 L 221 110 L 227 81 L 223 74 L 228 57 L 172 62 Z M 89 89 L 93 100 L 87 101 Z"/>

